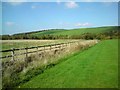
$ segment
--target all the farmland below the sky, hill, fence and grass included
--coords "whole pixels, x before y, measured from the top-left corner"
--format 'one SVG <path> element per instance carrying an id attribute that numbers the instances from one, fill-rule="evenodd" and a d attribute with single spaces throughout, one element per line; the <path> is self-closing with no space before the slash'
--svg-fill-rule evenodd
<path id="1" fill-rule="evenodd" d="M 111 26 L 4 36 L 3 87 L 116 88 L 118 33 Z"/>

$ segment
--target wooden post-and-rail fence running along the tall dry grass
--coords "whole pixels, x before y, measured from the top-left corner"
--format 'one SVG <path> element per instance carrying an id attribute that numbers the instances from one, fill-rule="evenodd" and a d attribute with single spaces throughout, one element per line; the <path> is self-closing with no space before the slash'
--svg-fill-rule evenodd
<path id="1" fill-rule="evenodd" d="M 16 60 L 15 56 L 19 55 L 25 55 L 25 57 L 28 57 L 28 54 L 30 53 L 38 53 L 40 51 L 45 52 L 46 50 L 52 50 L 52 49 L 64 49 L 64 46 L 68 46 L 71 43 L 75 43 L 78 41 L 72 41 L 72 42 L 67 42 L 67 43 L 58 43 L 58 44 L 50 44 L 50 45 L 43 45 L 43 46 L 36 46 L 36 47 L 26 47 L 26 48 L 12 48 L 9 50 L 1 50 L 0 53 L 11 53 L 10 55 L 5 55 L 1 56 L 0 59 L 5 59 L 5 58 L 12 58 L 12 60 Z M 41 48 L 41 49 L 40 49 Z M 34 51 L 29 52 L 30 49 L 35 49 Z M 16 51 L 24 50 L 25 52 L 23 53 L 15 53 Z"/>

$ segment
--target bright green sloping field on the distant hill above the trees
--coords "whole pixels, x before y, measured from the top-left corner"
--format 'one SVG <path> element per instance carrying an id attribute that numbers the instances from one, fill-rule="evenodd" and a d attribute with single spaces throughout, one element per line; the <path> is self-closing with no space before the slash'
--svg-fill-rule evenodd
<path id="1" fill-rule="evenodd" d="M 97 27 L 97 28 L 81 28 L 72 30 L 48 30 L 43 32 L 33 33 L 32 35 L 81 35 L 84 33 L 104 33 L 111 30 L 117 30 L 117 27 Z"/>

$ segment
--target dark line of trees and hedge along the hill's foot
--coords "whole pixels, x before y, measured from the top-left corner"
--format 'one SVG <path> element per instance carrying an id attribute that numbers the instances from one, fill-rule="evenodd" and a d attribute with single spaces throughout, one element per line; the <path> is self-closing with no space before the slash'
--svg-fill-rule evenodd
<path id="1" fill-rule="evenodd" d="M 33 35 L 30 33 L 15 34 L 15 35 L 1 35 L 0 39 L 2 40 L 16 40 L 16 39 L 39 39 L 39 40 L 55 40 L 55 39 L 113 39 L 120 38 L 119 30 L 112 30 L 104 33 L 84 33 L 81 35 L 52 35 L 52 34 L 43 34 L 43 35 Z"/>

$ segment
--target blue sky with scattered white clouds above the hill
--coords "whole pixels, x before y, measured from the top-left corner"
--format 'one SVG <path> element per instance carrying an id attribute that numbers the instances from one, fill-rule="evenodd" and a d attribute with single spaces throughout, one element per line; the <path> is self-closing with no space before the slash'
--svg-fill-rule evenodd
<path id="1" fill-rule="evenodd" d="M 2 2 L 0 34 L 117 25 L 117 2 Z"/>

